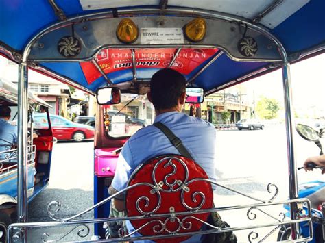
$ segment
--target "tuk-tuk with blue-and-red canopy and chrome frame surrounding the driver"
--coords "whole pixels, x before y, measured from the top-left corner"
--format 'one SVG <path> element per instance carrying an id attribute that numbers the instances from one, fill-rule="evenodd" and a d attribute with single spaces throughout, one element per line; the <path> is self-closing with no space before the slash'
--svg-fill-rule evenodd
<path id="1" fill-rule="evenodd" d="M 180 71 L 186 77 L 189 86 L 203 88 L 204 95 L 282 68 L 291 220 L 285 222 L 276 219 L 275 223 L 268 226 L 274 226 L 274 230 L 271 231 L 274 232 L 280 229 L 281 225 L 291 223 L 293 240 L 303 241 L 313 238 L 310 206 L 307 207 L 306 217 L 300 218 L 296 214 L 298 202 L 304 201 L 307 205 L 309 202 L 297 199 L 291 122 L 293 116 L 290 63 L 324 52 L 325 31 L 322 31 L 325 27 L 325 17 L 322 14 L 322 10 L 325 9 L 324 1 L 250 0 L 243 3 L 212 0 L 186 2 L 99 0 L 94 3 L 88 0 L 72 2 L 32 0 L 29 3 L 4 1 L 0 4 L 0 13 L 3 16 L 0 25 L 0 54 L 19 64 L 21 111 L 19 149 L 24 152 L 27 152 L 27 148 L 23 146 L 23 141 L 27 139 L 24 135 L 27 131 L 27 113 L 22 107 L 27 102 L 25 94 L 28 68 L 90 94 L 95 94 L 103 87 L 119 88 L 122 94 L 129 97 L 129 101 L 134 99 L 132 94 L 137 94 L 139 96 L 136 99 L 144 103 L 145 97 L 142 96 L 149 90 L 149 79 L 160 68 L 174 68 Z M 38 14 L 34 14 L 35 11 Z M 122 104 L 128 103 L 126 98 L 123 99 L 122 97 Z M 111 110 L 112 107 L 108 105 L 98 105 L 94 207 L 84 210 L 77 216 L 59 218 L 51 212 L 51 209 L 56 206 L 58 212 L 60 203 L 54 202 L 49 205 L 49 214 L 53 220 L 60 222 L 58 225 L 78 226 L 95 223 L 95 235 L 100 235 L 101 239 L 105 238 L 101 224 L 114 220 L 108 218 L 108 214 L 110 199 L 116 195 L 109 196 L 107 192 L 114 175 L 114 163 L 121 146 L 128 140 L 130 134 L 136 131 L 136 128 L 128 127 L 128 131 L 124 128 L 124 134 L 112 135 L 109 132 L 112 127 L 109 127 L 108 116 Z M 130 132 L 130 129 L 133 131 Z M 25 170 L 27 158 L 23 152 L 19 156 L 19 163 L 21 170 Z M 19 188 L 24 193 L 26 185 L 21 177 L 24 178 L 23 172 L 19 175 Z M 251 212 L 253 207 L 274 205 L 277 204 L 273 202 L 274 196 L 270 200 L 257 199 L 259 203 L 250 206 L 239 205 L 236 208 L 247 207 Z M 14 233 L 20 229 L 56 225 L 53 222 L 26 223 L 23 214 L 26 204 L 24 200 L 24 196 L 21 196 L 19 223 L 9 227 L 8 240 L 12 235 L 24 239 L 25 231 Z M 92 209 L 95 209 L 97 220 L 75 220 Z M 166 216 L 171 216 L 171 213 Z M 297 222 L 309 224 L 308 236 L 299 238 L 300 233 L 295 225 Z M 246 229 L 246 227 L 232 229 L 244 228 Z M 213 232 L 220 232 L 220 229 L 205 233 Z M 186 235 L 178 231 L 169 233 L 163 237 Z M 129 235 L 119 236 L 119 240 L 130 239 Z M 161 235 L 152 236 L 152 238 L 161 237 Z M 254 237 L 257 237 L 254 233 L 248 236 L 250 241 Z"/>

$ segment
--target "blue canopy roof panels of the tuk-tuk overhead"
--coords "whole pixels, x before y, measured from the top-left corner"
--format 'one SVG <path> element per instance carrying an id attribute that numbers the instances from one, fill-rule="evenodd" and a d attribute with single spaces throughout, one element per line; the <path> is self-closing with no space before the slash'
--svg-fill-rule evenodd
<path id="1" fill-rule="evenodd" d="M 261 21 L 259 21 L 258 26 L 268 29 L 282 43 L 290 60 L 298 60 L 304 54 L 309 55 L 324 49 L 325 1 L 323 0 L 285 0 L 275 5 L 274 8 L 269 8 L 269 1 L 248 0 L 245 1 L 245 4 L 241 0 L 229 2 L 202 0 L 198 5 L 197 1 L 175 0 L 168 1 L 167 10 L 169 8 L 199 10 L 200 7 L 202 12 L 222 12 L 225 16 L 234 16 L 246 21 L 252 21 L 256 16 L 260 16 Z M 53 3 L 57 5 L 57 10 L 62 10 L 67 19 L 86 14 L 107 12 L 108 10 L 114 10 L 113 13 L 116 14 L 119 10 L 128 10 L 128 8 L 134 6 L 143 10 L 148 8 L 157 8 L 159 10 L 159 1 L 154 0 L 56 0 Z M 60 23 L 54 9 L 48 0 L 0 1 L 0 53 L 12 60 L 19 61 L 19 59 L 15 58 L 15 54 L 22 54 L 34 36 L 45 28 Z M 263 10 L 269 10 L 269 12 L 265 15 L 259 15 Z M 256 62 L 254 60 L 253 62 L 244 62 L 242 60 L 237 62 L 234 58 L 232 60 L 230 56 L 229 53 L 224 52 L 200 75 L 196 75 L 213 59 L 213 57 L 210 57 L 187 74 L 186 78 L 191 79 L 196 75 L 195 84 L 202 86 L 207 92 L 211 92 L 215 88 L 226 87 L 224 85 L 231 84 L 233 81 L 244 80 L 250 74 L 252 74 L 250 77 L 254 77 L 261 71 L 267 71 L 267 69 L 277 66 L 272 62 L 260 62 L 259 60 L 256 60 Z M 54 75 L 58 79 L 62 78 L 63 81 L 72 81 L 90 92 L 107 83 L 102 76 L 95 81 L 87 81 L 80 62 L 67 60 L 66 62 L 36 63 L 39 71 Z M 35 66 L 34 68 L 37 69 Z M 138 68 L 136 70 L 137 79 L 149 79 L 156 70 L 155 68 Z M 108 73 L 108 78 L 112 81 L 112 84 L 130 81 L 132 80 L 132 68 Z"/>

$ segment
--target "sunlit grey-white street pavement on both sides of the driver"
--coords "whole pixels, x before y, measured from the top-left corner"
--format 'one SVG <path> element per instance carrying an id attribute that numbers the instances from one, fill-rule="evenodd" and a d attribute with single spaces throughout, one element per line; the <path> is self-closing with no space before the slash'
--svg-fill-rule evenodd
<path id="1" fill-rule="evenodd" d="M 319 153 L 319 149 L 313 142 L 307 142 L 298 135 L 295 136 L 295 143 L 298 167 L 302 166 L 306 157 Z M 269 125 L 265 126 L 264 130 L 254 131 L 217 131 L 215 171 L 217 182 L 221 185 L 267 201 L 273 195 L 267 192 L 267 183 L 274 183 L 279 190 L 276 201 L 285 200 L 289 196 L 287 168 L 284 125 Z M 324 176 L 318 170 L 308 173 L 304 170 L 298 171 L 299 182 L 315 179 L 324 180 Z M 49 187 L 38 195 L 29 206 L 29 221 L 51 220 L 47 216 L 47 205 L 53 200 L 62 203 L 62 209 L 58 212 L 62 218 L 73 216 L 93 205 L 93 142 L 59 142 L 55 144 Z M 215 191 L 217 207 L 249 203 L 258 202 L 223 188 L 218 187 Z M 274 212 L 274 216 L 278 216 L 280 213 L 278 210 L 281 209 L 282 206 L 278 206 L 270 210 Z M 220 214 L 232 227 L 238 227 L 240 226 L 237 225 L 240 221 L 239 218 L 243 218 L 245 221 L 246 212 L 247 209 L 240 214 L 238 211 L 220 212 Z M 88 212 L 82 218 L 92 217 L 93 212 Z M 262 219 L 257 217 L 256 221 L 269 222 L 263 217 L 265 216 L 262 216 Z M 256 223 L 248 219 L 246 221 L 247 225 Z M 256 231 L 260 233 L 258 239 L 261 240 L 271 229 Z M 59 235 L 62 236 L 67 231 L 69 230 L 64 229 L 61 234 L 55 233 L 58 230 L 53 231 L 52 234 L 49 233 L 51 235 L 49 239 L 60 238 Z M 250 231 L 236 231 L 239 242 L 248 242 L 248 233 Z M 92 234 L 93 232 L 89 235 Z M 36 237 L 34 233 L 30 232 L 29 239 L 33 239 L 32 242 L 38 242 L 36 239 L 39 238 L 34 237 Z M 274 237 L 276 234 L 273 239 Z M 67 236 L 64 239 L 71 238 Z"/>

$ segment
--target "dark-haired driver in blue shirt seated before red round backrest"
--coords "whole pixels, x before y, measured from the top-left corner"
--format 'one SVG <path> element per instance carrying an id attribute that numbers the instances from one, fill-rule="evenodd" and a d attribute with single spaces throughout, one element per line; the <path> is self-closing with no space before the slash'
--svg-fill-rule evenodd
<path id="1" fill-rule="evenodd" d="M 215 180 L 215 127 L 206 121 L 182 113 L 186 99 L 186 79 L 177 71 L 162 69 L 152 76 L 147 96 L 153 103 L 156 118 L 154 122 L 166 125 L 182 140 L 186 149 L 210 179 Z M 179 154 L 169 139 L 157 127 L 147 126 L 137 131 L 123 146 L 117 162 L 110 194 L 126 187 L 134 169 L 157 155 Z M 125 210 L 123 199 L 114 200 L 118 211 Z M 129 231 L 132 225 L 127 222 Z M 188 241 L 200 242 L 200 235 Z M 186 241 L 187 242 L 187 241 Z"/>

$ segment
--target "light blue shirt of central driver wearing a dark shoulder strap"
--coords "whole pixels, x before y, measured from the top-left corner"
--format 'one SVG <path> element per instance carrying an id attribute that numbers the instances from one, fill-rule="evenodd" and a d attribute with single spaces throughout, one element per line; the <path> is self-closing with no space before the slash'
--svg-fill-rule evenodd
<path id="1" fill-rule="evenodd" d="M 193 159 L 208 174 L 215 177 L 215 127 L 206 121 L 180 112 L 166 112 L 156 116 L 154 122 L 161 122 L 180 138 Z M 123 146 L 117 162 L 112 187 L 122 190 L 134 169 L 148 159 L 158 155 L 180 154 L 165 134 L 157 127 L 147 126 L 137 131 Z M 130 223 L 127 223 L 130 230 Z M 132 230 L 132 229 L 131 229 Z M 147 242 L 147 241 L 146 241 Z M 200 235 L 186 242 L 200 242 Z"/>

